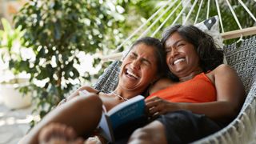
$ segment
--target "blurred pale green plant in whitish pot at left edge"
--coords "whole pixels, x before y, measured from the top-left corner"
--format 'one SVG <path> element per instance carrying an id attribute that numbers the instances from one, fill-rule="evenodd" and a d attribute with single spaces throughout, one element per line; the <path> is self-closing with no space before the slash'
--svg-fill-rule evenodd
<path id="1" fill-rule="evenodd" d="M 27 75 L 21 70 L 12 68 L 12 59 L 22 58 L 21 49 L 24 45 L 23 32 L 20 27 L 12 29 L 10 23 L 2 18 L 3 30 L 0 30 L 1 75 L 0 96 L 10 109 L 19 109 L 31 104 L 31 95 L 26 94 L 24 86 L 29 82 Z M 23 87 L 23 88 L 22 88 Z M 22 88 L 22 89 L 21 89 Z"/>

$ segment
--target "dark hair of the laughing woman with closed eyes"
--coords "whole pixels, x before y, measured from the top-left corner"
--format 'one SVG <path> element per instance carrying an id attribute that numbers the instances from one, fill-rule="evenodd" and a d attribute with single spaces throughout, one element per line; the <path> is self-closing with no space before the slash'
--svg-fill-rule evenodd
<path id="1" fill-rule="evenodd" d="M 168 66 L 166 64 L 166 50 L 162 46 L 162 42 L 158 38 L 144 37 L 134 42 L 130 50 L 132 50 L 134 46 L 141 43 L 154 48 L 154 54 L 157 59 L 158 76 L 165 76 L 168 71 Z"/>

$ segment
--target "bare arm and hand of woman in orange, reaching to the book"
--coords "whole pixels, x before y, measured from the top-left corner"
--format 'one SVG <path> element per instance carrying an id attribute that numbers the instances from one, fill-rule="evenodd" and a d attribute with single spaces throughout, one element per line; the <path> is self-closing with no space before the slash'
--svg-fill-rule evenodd
<path id="1" fill-rule="evenodd" d="M 150 114 L 158 115 L 174 110 L 190 110 L 196 114 L 206 114 L 209 118 L 221 122 L 230 122 L 238 114 L 245 99 L 242 82 L 236 72 L 227 65 L 218 66 L 212 71 L 212 75 L 217 92 L 216 102 L 167 102 L 156 97 L 146 100 Z"/>

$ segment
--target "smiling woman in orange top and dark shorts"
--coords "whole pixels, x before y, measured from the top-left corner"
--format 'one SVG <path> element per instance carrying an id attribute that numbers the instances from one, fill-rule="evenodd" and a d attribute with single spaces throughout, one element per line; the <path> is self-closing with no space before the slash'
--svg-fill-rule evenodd
<path id="1" fill-rule="evenodd" d="M 152 86 L 146 106 L 158 119 L 136 130 L 130 142 L 188 143 L 226 126 L 245 92 L 238 74 L 222 64 L 213 38 L 195 26 L 177 25 L 163 33 L 162 44 L 172 80 Z"/>

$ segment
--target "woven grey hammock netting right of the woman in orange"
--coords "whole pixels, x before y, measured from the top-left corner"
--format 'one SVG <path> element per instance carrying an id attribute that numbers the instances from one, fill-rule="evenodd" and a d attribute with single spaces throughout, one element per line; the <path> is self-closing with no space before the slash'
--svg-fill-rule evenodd
<path id="1" fill-rule="evenodd" d="M 228 126 L 194 143 L 255 143 L 256 142 L 256 36 L 224 47 L 226 61 L 238 72 L 246 90 L 242 110 Z"/>

